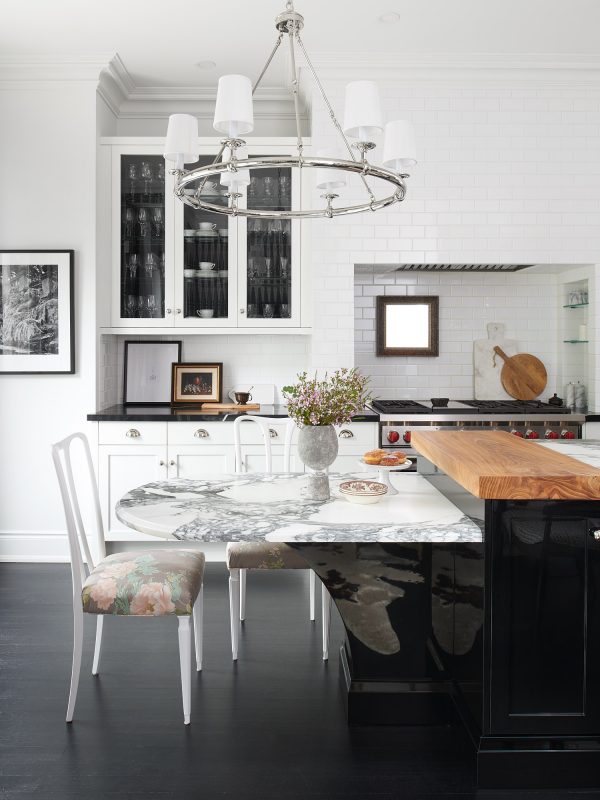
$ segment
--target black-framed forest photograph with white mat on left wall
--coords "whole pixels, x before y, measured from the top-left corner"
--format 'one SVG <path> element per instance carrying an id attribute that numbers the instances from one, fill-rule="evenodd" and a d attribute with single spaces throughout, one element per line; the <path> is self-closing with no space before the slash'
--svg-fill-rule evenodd
<path id="1" fill-rule="evenodd" d="M 0 250 L 0 373 L 73 372 L 73 250 Z"/>

